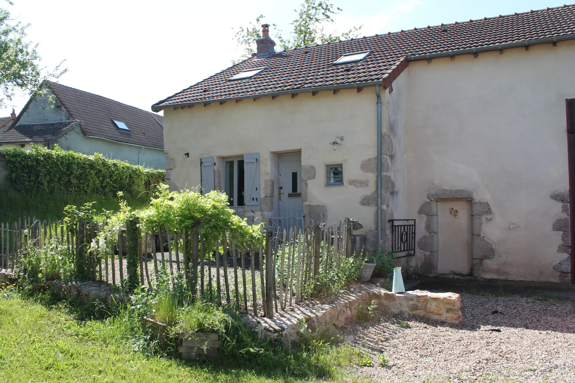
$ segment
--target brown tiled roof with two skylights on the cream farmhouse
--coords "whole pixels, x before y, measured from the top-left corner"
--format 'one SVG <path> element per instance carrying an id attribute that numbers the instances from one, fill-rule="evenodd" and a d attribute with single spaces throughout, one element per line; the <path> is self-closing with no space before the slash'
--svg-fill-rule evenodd
<path id="1" fill-rule="evenodd" d="M 407 64 L 404 61 L 409 56 L 457 54 L 478 48 L 500 49 L 500 45 L 509 47 L 509 44 L 530 41 L 535 44 L 548 38 L 575 38 L 574 5 L 331 42 L 275 53 L 264 59 L 250 57 L 155 103 L 152 110 L 275 92 L 295 93 L 313 88 L 381 82 L 382 79 L 389 80 L 398 65 Z M 361 51 L 371 53 L 359 63 L 332 65 L 344 54 Z M 228 80 L 241 71 L 260 67 L 266 69 L 253 78 Z"/>

